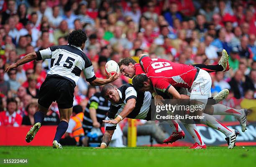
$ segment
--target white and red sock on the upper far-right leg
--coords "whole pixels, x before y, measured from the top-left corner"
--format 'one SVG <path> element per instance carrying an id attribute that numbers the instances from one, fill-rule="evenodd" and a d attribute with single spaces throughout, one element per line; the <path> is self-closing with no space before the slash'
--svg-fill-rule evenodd
<path id="1" fill-rule="evenodd" d="M 223 104 L 215 104 L 213 106 L 213 115 L 233 115 L 240 118 L 243 113 L 243 109 L 233 109 Z"/>

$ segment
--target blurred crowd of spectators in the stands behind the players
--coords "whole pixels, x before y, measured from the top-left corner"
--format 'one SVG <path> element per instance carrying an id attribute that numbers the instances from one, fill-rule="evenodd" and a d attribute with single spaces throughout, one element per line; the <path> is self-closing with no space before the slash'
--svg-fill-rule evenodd
<path id="1" fill-rule="evenodd" d="M 82 29 L 84 53 L 95 75 L 107 78 L 105 63 L 148 53 L 184 64 L 217 64 L 230 55 L 230 70 L 211 73 L 212 94 L 229 89 L 228 100 L 256 98 L 256 3 L 254 0 L 0 0 L 0 126 L 33 125 L 38 91 L 51 60 L 33 61 L 4 73 L 28 53 L 67 45 Z M 120 75 L 116 87 L 131 82 Z M 74 105 L 86 110 L 100 92 L 81 73 Z M 236 105 L 235 105 L 236 106 Z M 232 106 L 233 107 L 233 106 Z M 59 124 L 56 103 L 45 125 Z M 43 124 L 43 125 L 44 125 Z"/>

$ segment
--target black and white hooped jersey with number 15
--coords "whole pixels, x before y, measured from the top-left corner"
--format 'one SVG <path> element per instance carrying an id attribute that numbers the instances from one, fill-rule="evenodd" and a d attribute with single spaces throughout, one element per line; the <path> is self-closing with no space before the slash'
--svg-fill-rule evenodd
<path id="1" fill-rule="evenodd" d="M 81 48 L 73 45 L 51 46 L 47 49 L 36 51 L 37 61 L 51 58 L 51 68 L 47 75 L 64 77 L 76 85 L 81 71 L 86 81 L 96 79 L 92 62 Z"/>

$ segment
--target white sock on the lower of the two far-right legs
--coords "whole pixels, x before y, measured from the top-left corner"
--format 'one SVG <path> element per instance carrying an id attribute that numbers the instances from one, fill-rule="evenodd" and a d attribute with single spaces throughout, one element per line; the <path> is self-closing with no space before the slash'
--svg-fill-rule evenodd
<path id="1" fill-rule="evenodd" d="M 230 136 L 232 134 L 231 129 L 226 127 L 224 124 L 222 124 L 220 121 L 215 119 L 213 116 L 202 113 L 202 116 L 205 116 L 204 119 L 201 119 L 201 123 L 207 125 L 208 127 L 211 127 L 213 129 L 216 129 L 223 134 L 226 135 L 226 137 Z"/>

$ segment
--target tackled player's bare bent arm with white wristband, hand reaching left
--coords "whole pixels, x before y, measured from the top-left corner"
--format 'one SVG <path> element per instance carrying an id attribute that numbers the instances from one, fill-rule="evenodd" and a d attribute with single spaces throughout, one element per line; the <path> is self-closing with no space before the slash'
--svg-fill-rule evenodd
<path id="1" fill-rule="evenodd" d="M 115 118 L 111 120 L 103 120 L 103 122 L 108 124 L 118 124 L 118 122 L 122 121 L 126 116 L 128 116 L 131 111 L 135 108 L 136 99 L 129 99 L 125 104 L 123 111 Z"/>

